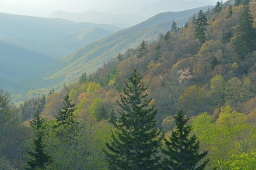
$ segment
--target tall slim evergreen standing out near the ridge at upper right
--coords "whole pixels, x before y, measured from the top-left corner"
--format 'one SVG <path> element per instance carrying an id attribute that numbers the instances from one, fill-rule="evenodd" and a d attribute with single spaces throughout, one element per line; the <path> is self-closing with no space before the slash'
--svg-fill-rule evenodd
<path id="1" fill-rule="evenodd" d="M 202 10 L 198 12 L 197 19 L 195 21 L 195 38 L 198 38 L 201 43 L 204 43 L 206 40 L 206 26 L 209 25 L 207 23 L 206 15 Z"/>

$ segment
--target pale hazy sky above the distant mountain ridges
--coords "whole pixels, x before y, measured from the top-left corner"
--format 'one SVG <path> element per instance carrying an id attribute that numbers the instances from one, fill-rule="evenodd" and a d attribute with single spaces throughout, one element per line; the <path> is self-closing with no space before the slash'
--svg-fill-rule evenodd
<path id="1" fill-rule="evenodd" d="M 54 11 L 83 13 L 99 11 L 106 14 L 155 15 L 165 11 L 182 11 L 217 0 L 0 0 L 0 12 L 47 17 Z"/>

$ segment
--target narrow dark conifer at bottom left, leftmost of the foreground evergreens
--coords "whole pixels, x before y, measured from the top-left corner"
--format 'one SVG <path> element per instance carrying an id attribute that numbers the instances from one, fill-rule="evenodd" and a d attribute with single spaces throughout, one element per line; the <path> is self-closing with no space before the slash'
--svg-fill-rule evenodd
<path id="1" fill-rule="evenodd" d="M 51 160 L 50 156 L 44 152 L 44 144 L 42 143 L 44 137 L 44 119 L 40 116 L 39 111 L 35 114 L 35 119 L 29 121 L 29 124 L 36 130 L 36 137 L 33 138 L 34 151 L 27 151 L 32 156 L 32 159 L 28 161 L 29 167 L 26 169 L 45 169 Z"/>

